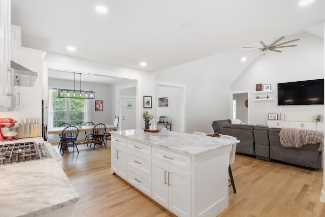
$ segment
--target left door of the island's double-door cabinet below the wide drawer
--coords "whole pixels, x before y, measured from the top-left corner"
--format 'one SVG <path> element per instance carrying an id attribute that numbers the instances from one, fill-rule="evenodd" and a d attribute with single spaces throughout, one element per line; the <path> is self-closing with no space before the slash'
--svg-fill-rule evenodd
<path id="1" fill-rule="evenodd" d="M 168 165 L 152 160 L 152 198 L 168 208 Z"/>

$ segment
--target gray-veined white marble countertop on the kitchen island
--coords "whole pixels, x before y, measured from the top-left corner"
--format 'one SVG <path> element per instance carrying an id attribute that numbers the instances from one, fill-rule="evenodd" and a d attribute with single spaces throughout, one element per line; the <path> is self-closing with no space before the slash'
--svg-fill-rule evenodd
<path id="1" fill-rule="evenodd" d="M 239 140 L 222 139 L 212 136 L 201 136 L 175 131 L 159 131 L 158 133 L 145 132 L 142 129 L 112 131 L 134 141 L 140 141 L 156 147 L 185 153 L 192 156 L 202 154 L 224 146 L 239 143 Z"/>

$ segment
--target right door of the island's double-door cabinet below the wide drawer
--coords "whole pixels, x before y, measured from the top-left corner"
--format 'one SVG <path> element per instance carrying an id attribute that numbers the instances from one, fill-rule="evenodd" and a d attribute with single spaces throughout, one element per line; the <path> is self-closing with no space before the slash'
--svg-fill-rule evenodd
<path id="1" fill-rule="evenodd" d="M 178 216 L 191 216 L 191 174 L 169 167 L 169 209 Z"/>

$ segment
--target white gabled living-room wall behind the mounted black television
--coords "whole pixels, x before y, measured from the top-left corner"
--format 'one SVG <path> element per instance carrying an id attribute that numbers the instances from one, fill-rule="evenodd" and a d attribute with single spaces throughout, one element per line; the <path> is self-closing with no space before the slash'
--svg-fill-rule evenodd
<path id="1" fill-rule="evenodd" d="M 268 51 L 259 56 L 231 85 L 232 91 L 250 89 L 257 83 L 271 84 L 273 101 L 253 101 L 258 94 L 251 94 L 250 123 L 267 124 L 268 113 L 285 109 L 286 120 L 312 121 L 316 114 L 324 113 L 323 105 L 278 106 L 277 83 L 324 78 L 324 41 L 318 36 L 301 33 L 286 37 L 284 41 L 300 38 L 297 47 L 282 48 L 282 53 Z M 258 54 L 256 54 L 258 55 Z M 262 96 L 262 95 L 261 95 Z M 265 96 L 262 96 L 265 97 Z M 280 115 L 279 115 L 280 117 Z"/>

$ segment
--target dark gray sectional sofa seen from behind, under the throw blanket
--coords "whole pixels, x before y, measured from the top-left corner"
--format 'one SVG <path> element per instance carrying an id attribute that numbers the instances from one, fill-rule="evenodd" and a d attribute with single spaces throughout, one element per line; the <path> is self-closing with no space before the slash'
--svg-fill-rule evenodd
<path id="1" fill-rule="evenodd" d="M 236 153 L 249 154 L 265 161 L 281 161 L 303 167 L 322 168 L 322 151 L 319 143 L 300 148 L 283 147 L 280 143 L 280 128 L 261 125 L 222 124 L 221 133 L 240 140 Z"/>

